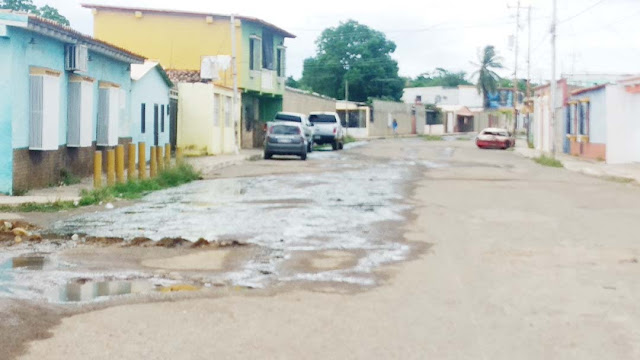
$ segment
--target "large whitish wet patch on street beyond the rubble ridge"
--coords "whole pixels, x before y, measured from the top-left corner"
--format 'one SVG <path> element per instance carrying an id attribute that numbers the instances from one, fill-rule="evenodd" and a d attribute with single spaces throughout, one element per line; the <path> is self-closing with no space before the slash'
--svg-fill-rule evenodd
<path id="1" fill-rule="evenodd" d="M 334 173 L 199 181 L 130 207 L 57 223 L 54 231 L 155 241 L 242 239 L 257 247 L 254 256 L 212 281 L 250 287 L 303 280 L 373 285 L 376 267 L 409 252 L 397 239 L 379 236 L 375 224 L 403 219 L 404 183 L 411 176 L 406 166 L 377 163 Z M 326 271 L 283 271 L 300 254 L 325 250 L 348 252 L 355 260 Z"/>

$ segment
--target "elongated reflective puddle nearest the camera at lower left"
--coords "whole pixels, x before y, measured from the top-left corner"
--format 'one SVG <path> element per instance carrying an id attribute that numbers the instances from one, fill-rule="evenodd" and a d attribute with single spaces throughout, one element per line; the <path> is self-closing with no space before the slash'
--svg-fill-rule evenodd
<path id="1" fill-rule="evenodd" d="M 47 298 L 52 302 L 86 302 L 151 291 L 156 291 L 156 287 L 148 281 L 71 282 L 51 290 Z"/>

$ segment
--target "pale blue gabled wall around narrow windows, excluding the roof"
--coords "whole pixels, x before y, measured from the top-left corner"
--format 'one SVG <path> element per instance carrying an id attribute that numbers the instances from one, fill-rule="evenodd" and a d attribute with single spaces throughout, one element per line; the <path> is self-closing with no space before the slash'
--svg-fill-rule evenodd
<path id="1" fill-rule="evenodd" d="M 142 133 L 141 104 L 145 104 L 145 132 Z M 154 145 L 154 105 L 158 105 L 158 145 L 169 143 L 169 86 L 156 68 L 151 69 L 142 79 L 133 81 L 131 88 L 131 108 L 129 133 L 134 143 L 145 142 L 147 161 L 151 158 L 150 147 Z M 162 131 L 162 105 L 164 105 L 164 131 Z"/>

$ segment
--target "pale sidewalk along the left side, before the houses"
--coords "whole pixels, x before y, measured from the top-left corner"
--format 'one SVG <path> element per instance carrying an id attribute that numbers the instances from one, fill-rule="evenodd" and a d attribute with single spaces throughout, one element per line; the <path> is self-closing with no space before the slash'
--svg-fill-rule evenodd
<path id="1" fill-rule="evenodd" d="M 227 166 L 233 166 L 243 161 L 253 160 L 262 157 L 262 150 L 250 149 L 241 150 L 239 154 L 217 155 L 217 156 L 199 156 L 186 157 L 185 161 L 197 170 L 203 173 L 210 173 Z M 106 183 L 106 178 L 103 179 Z M 69 186 L 57 186 L 44 189 L 33 189 L 24 196 L 7 196 L 0 195 L 0 206 L 17 206 L 27 203 L 45 204 L 55 201 L 79 201 L 80 193 L 83 189 L 91 190 L 93 188 L 93 178 L 88 177 L 82 179 L 80 184 Z"/>

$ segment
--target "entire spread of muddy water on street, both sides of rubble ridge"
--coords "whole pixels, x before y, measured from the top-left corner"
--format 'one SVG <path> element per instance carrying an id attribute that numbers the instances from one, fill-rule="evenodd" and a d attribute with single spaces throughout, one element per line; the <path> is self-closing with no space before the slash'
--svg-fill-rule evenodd
<path id="1" fill-rule="evenodd" d="M 318 151 L 310 159 L 317 167 L 333 169 L 197 181 L 155 192 L 131 206 L 58 221 L 47 231 L 79 234 L 79 240 L 17 246 L 1 254 L 0 297 L 89 302 L 181 283 L 214 288 L 375 285 L 377 268 L 410 254 L 400 229 L 409 210 L 403 199 L 411 180 L 429 164 L 411 156 L 373 161 L 348 152 Z M 216 245 L 122 262 L 98 259 L 91 248 L 78 250 L 96 238 L 124 239 L 124 244 L 110 245 L 118 249 L 141 238 L 156 243 L 204 239 Z M 219 247 L 238 242 L 249 246 Z M 73 251 L 80 255 L 69 257 Z"/>

